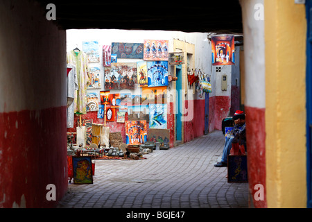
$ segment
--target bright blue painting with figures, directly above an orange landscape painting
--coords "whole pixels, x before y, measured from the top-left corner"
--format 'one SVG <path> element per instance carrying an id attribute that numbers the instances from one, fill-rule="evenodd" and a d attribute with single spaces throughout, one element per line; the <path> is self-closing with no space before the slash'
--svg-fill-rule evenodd
<path id="1" fill-rule="evenodd" d="M 147 62 L 148 87 L 168 85 L 168 62 Z"/>

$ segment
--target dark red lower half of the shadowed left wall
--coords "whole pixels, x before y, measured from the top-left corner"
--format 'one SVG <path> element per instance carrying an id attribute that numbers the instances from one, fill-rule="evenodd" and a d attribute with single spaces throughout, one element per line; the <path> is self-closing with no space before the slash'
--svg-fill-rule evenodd
<path id="1" fill-rule="evenodd" d="M 66 106 L 0 113 L 0 126 L 0 207 L 55 207 L 68 186 Z"/>

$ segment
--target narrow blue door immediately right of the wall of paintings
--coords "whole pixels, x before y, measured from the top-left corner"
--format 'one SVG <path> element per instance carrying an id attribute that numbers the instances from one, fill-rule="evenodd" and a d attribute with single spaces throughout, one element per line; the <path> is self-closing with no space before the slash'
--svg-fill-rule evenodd
<path id="1" fill-rule="evenodd" d="M 175 89 L 177 90 L 177 94 L 175 97 L 175 140 L 181 141 L 182 140 L 182 65 L 177 65 L 175 67 L 175 74 L 177 76 L 177 81 L 175 82 Z"/>

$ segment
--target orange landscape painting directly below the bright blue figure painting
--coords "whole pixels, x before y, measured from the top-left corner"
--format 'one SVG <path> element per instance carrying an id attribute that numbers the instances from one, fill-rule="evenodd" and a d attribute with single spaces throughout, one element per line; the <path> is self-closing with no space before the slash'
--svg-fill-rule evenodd
<path id="1" fill-rule="evenodd" d="M 142 103 L 157 104 L 167 103 L 167 87 L 143 87 L 142 88 Z"/>

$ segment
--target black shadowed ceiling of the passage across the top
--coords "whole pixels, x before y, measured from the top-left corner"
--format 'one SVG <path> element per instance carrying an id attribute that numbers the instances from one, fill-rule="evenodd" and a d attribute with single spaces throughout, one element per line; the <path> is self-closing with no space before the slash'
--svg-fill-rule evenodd
<path id="1" fill-rule="evenodd" d="M 66 1 L 38 0 L 56 6 L 63 29 L 116 28 L 202 33 L 243 33 L 239 0 L 223 1 Z"/>

